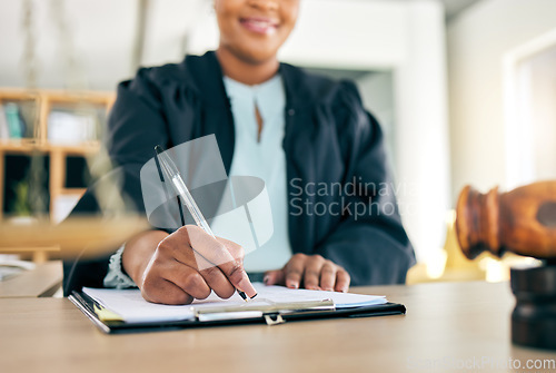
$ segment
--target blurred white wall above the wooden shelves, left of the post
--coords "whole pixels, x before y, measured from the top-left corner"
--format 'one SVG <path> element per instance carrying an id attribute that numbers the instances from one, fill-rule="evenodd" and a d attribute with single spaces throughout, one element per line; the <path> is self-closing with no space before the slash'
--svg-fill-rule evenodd
<path id="1" fill-rule="evenodd" d="M 3 1 L 0 6 L 2 87 L 26 85 L 22 3 Z M 112 90 L 119 79 L 131 75 L 129 56 L 135 32 L 135 0 L 118 0 L 118 3 L 110 0 L 64 1 L 63 14 L 52 13 L 51 1 L 33 0 L 32 3 L 39 87 L 75 86 L 70 81 L 68 53 L 75 56 L 79 84 L 87 88 Z M 60 19 L 69 31 L 63 36 L 58 28 Z"/>

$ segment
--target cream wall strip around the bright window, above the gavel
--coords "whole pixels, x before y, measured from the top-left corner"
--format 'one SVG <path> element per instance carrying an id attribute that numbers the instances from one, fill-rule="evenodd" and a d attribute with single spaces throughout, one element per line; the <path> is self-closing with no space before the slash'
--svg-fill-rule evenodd
<path id="1" fill-rule="evenodd" d="M 554 0 L 483 0 L 448 24 L 453 190 L 507 180 L 503 60 L 556 28 Z"/>

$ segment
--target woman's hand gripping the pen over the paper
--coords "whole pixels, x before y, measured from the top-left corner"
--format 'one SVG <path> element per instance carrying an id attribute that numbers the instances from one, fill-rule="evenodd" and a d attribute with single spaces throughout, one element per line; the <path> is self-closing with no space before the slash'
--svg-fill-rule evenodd
<path id="1" fill-rule="evenodd" d="M 156 249 L 149 253 L 148 247 Z M 211 291 L 229 298 L 236 288 L 249 297 L 257 294 L 244 269 L 241 246 L 215 239 L 193 225 L 171 235 L 158 232 L 130 241 L 122 261 L 145 300 L 152 303 L 189 304 Z"/>

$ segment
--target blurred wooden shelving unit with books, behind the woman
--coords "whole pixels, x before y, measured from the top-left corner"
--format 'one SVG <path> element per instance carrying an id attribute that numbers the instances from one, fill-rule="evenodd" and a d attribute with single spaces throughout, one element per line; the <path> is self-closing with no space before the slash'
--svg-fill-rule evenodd
<path id="1" fill-rule="evenodd" d="M 0 89 L 0 105 L 6 107 L 8 104 L 13 107 L 16 104 L 27 110 L 20 114 L 26 125 L 21 138 L 7 138 L 6 136 L 0 138 L 0 219 L 7 215 L 17 215 L 9 212 L 8 207 L 12 202 L 7 195 L 10 195 L 11 189 L 10 193 L 7 190 L 13 184 L 13 180 L 10 180 L 10 170 L 17 170 L 16 168 L 20 166 L 11 166 L 10 157 L 42 158 L 43 183 L 46 184 L 43 189 L 49 200 L 47 209 L 51 219 L 54 218 L 57 200 L 63 196 L 82 195 L 85 185 L 68 186 L 68 159 L 87 158 L 99 151 L 108 110 L 115 98 L 116 95 L 112 92 Z M 76 128 L 68 128 L 71 121 L 64 121 L 66 127 L 58 126 L 57 134 L 54 134 L 52 112 L 56 111 L 70 117 L 91 115 L 93 118 L 93 115 L 97 115 L 92 136 L 68 138 L 66 136 L 68 132 L 79 135 L 80 131 Z"/>

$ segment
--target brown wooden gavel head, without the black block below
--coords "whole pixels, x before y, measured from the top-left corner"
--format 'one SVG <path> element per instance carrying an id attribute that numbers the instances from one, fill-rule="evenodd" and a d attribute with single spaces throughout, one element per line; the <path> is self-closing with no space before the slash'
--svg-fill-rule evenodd
<path id="1" fill-rule="evenodd" d="M 502 194 L 498 188 L 480 194 L 466 186 L 456 213 L 459 245 L 470 259 L 485 251 L 556 259 L 556 180 Z"/>

